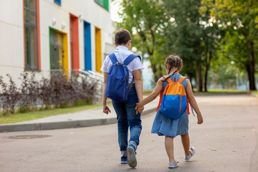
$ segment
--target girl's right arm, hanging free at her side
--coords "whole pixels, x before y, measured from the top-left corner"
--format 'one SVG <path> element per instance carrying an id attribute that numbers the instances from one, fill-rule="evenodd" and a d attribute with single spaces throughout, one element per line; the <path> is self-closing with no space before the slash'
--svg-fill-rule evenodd
<path id="1" fill-rule="evenodd" d="M 201 111 L 200 111 L 200 109 L 197 105 L 197 102 L 195 100 L 194 93 L 193 93 L 193 90 L 192 90 L 191 83 L 188 79 L 187 79 L 187 86 L 186 86 L 186 95 L 188 97 L 190 105 L 194 108 L 195 112 L 197 113 L 197 118 L 198 118 L 197 123 L 201 124 L 203 122 Z"/>

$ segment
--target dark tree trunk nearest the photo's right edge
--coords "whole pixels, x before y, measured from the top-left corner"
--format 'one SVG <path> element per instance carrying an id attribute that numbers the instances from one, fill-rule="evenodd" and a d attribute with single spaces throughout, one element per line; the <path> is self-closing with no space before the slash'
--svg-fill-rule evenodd
<path id="1" fill-rule="evenodd" d="M 255 52 L 254 52 L 254 42 L 250 42 L 250 60 L 246 64 L 246 69 L 248 73 L 249 89 L 256 90 L 256 80 L 255 80 Z"/>

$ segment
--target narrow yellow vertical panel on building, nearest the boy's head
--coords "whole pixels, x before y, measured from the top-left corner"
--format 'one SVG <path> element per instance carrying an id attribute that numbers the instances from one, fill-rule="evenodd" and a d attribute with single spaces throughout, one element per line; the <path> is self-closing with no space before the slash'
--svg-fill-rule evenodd
<path id="1" fill-rule="evenodd" d="M 95 48 L 96 48 L 96 71 L 101 72 L 102 54 L 101 54 L 101 30 L 95 28 Z"/>

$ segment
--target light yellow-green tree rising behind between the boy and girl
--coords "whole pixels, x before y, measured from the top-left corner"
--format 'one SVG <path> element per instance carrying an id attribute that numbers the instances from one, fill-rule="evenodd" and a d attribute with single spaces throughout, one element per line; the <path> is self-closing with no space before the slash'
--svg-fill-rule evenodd
<path id="1" fill-rule="evenodd" d="M 161 65 L 167 56 L 167 38 L 164 29 L 167 28 L 169 19 L 165 13 L 162 0 L 121 0 L 122 18 L 117 23 L 118 29 L 128 29 L 133 37 L 133 45 L 149 57 L 154 73 L 154 81 L 158 81 Z"/>

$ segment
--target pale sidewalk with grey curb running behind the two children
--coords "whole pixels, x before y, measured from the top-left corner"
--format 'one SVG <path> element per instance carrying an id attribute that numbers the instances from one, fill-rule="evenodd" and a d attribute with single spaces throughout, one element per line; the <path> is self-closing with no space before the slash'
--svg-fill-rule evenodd
<path id="1" fill-rule="evenodd" d="M 155 112 L 158 106 L 159 97 L 144 106 L 142 115 Z M 106 115 L 102 108 L 94 108 L 70 114 L 54 115 L 45 118 L 29 120 L 14 124 L 0 124 L 0 132 L 30 131 L 30 130 L 51 130 L 61 128 L 78 128 L 95 125 L 107 125 L 116 123 L 116 115 L 113 106 L 110 106 L 111 114 Z"/>

